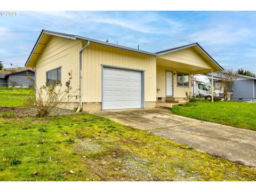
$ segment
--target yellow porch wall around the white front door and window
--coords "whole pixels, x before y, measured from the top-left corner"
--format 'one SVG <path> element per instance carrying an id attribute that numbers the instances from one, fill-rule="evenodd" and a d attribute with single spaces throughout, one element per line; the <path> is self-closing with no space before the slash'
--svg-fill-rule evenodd
<path id="1" fill-rule="evenodd" d="M 160 89 L 156 93 L 157 97 L 166 97 L 166 70 L 173 71 L 173 97 L 174 98 L 186 98 L 185 92 L 191 91 L 191 74 L 190 71 L 178 70 L 173 68 L 157 66 L 156 68 L 156 87 Z M 177 86 L 177 72 L 183 72 L 189 74 L 189 87 Z M 175 74 L 175 75 L 174 75 Z"/>

